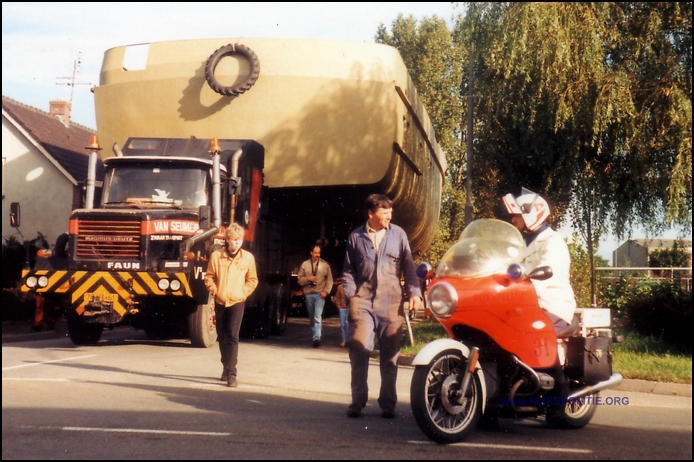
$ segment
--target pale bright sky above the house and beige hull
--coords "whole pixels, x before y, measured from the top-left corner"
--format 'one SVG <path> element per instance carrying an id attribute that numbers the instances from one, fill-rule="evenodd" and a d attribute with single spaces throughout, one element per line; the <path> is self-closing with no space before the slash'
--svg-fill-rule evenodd
<path id="1" fill-rule="evenodd" d="M 451 2 L 3 2 L 2 94 L 44 111 L 51 100 L 71 100 L 72 120 L 96 129 L 90 89 L 109 48 L 197 38 L 373 42 L 378 26 L 390 29 L 399 14 L 436 15 L 450 28 L 460 13 Z M 571 237 L 568 227 L 560 232 Z M 632 237 L 654 236 L 635 230 Z M 607 236 L 598 254 L 611 264 L 622 242 Z"/>

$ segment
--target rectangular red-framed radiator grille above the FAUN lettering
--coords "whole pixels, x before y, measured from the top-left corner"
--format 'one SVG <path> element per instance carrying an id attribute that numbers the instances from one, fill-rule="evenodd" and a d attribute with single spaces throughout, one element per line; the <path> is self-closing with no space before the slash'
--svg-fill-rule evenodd
<path id="1" fill-rule="evenodd" d="M 140 221 L 80 220 L 77 258 L 140 258 Z"/>

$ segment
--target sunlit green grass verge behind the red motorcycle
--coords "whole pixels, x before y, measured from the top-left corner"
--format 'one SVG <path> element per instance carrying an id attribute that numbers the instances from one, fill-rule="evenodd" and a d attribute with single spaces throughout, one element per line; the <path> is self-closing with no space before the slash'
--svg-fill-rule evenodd
<path id="1" fill-rule="evenodd" d="M 424 345 L 446 338 L 446 331 L 433 318 L 412 325 L 414 345 L 407 329 L 403 332 L 401 354 L 415 356 Z M 625 379 L 652 380 L 667 383 L 692 383 L 692 353 L 677 351 L 651 337 L 624 333 L 624 343 L 613 344 L 612 370 Z"/>

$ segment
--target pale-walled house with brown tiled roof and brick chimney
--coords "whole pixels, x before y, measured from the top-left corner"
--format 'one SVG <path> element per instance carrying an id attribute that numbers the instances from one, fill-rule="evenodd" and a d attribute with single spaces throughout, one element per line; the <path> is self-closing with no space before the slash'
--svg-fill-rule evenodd
<path id="1" fill-rule="evenodd" d="M 70 103 L 51 101 L 49 112 L 2 97 L 2 237 L 20 242 L 41 233 L 55 241 L 68 230 L 70 212 L 85 204 L 89 153 L 94 130 L 70 122 Z M 97 160 L 94 203 L 101 196 L 104 168 Z M 11 204 L 21 210 L 20 226 L 10 226 Z"/>

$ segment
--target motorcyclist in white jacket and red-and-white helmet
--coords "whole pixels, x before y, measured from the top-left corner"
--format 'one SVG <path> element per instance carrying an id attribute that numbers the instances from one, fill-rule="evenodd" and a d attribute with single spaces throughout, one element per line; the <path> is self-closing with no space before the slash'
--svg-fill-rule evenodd
<path id="1" fill-rule="evenodd" d="M 525 188 L 518 197 L 507 194 L 504 205 L 512 215 L 511 223 L 523 234 L 527 246 L 523 265 L 527 272 L 540 266 L 552 268 L 553 276 L 544 281 L 532 280 L 538 303 L 554 325 L 564 331 L 576 311 L 576 298 L 571 287 L 571 258 L 564 238 L 549 226 L 549 205 L 539 194 Z"/>

